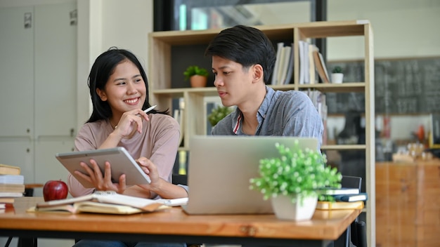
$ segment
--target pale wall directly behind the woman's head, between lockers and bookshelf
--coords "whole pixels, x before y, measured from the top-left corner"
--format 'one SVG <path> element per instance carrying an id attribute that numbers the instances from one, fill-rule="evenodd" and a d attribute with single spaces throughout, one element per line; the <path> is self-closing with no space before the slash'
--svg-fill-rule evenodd
<path id="1" fill-rule="evenodd" d="M 147 70 L 148 33 L 153 32 L 153 0 L 77 2 L 78 126 L 82 126 L 91 113 L 87 76 L 98 55 L 111 46 L 125 48 L 132 51 Z"/>

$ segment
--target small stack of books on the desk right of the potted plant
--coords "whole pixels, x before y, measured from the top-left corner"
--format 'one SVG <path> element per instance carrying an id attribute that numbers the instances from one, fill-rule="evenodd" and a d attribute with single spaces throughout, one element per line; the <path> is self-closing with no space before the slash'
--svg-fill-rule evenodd
<path id="1" fill-rule="evenodd" d="M 318 201 L 316 205 L 318 210 L 362 209 L 368 199 L 366 193 L 354 188 L 325 188 L 320 189 L 318 193 L 325 195 L 326 199 L 332 198 L 332 200 Z"/>

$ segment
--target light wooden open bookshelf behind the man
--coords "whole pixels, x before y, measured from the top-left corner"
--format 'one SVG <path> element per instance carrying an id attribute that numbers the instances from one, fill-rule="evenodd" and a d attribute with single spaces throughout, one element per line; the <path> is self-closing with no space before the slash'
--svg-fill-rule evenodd
<path id="1" fill-rule="evenodd" d="M 307 22 L 290 25 L 264 25 L 261 29 L 274 46 L 280 41 L 292 44 L 295 50 L 293 81 L 276 85 L 276 90 L 317 90 L 322 93 L 363 93 L 365 95 L 365 145 L 323 145 L 325 150 L 365 151 L 365 189 L 368 206 L 365 207 L 369 245 L 375 244 L 375 102 L 374 102 L 374 57 L 373 29 L 368 20 L 337 22 Z M 205 48 L 221 29 L 165 31 L 149 34 L 150 102 L 159 109 L 172 109 L 172 101 L 183 98 L 183 145 L 188 150 L 191 135 L 206 135 L 207 110 L 205 98 L 216 96 L 216 88 L 208 83 L 205 88 L 190 88 L 183 81 L 182 73 L 195 61 L 210 68 L 211 61 L 203 56 Z M 326 39 L 330 37 L 361 36 L 364 45 L 364 79 L 344 84 L 299 84 L 299 41 Z M 213 79 L 209 79 L 213 81 Z M 270 81 L 268 82 L 270 84 Z"/>

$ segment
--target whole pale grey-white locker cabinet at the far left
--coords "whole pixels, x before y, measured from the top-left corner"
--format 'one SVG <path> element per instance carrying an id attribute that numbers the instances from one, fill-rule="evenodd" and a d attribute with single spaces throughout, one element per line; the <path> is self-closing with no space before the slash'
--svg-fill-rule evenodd
<path id="1" fill-rule="evenodd" d="M 25 183 L 66 180 L 77 133 L 76 1 L 0 8 L 0 163 Z"/>

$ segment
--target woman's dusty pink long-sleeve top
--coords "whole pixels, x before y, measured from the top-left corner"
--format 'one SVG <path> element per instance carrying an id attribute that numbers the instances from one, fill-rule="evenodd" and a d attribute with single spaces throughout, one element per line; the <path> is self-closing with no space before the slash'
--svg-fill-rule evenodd
<path id="1" fill-rule="evenodd" d="M 179 147 L 179 123 L 165 114 L 148 114 L 150 121 L 143 121 L 142 133 L 136 132 L 130 139 L 122 139 L 118 147 L 124 147 L 134 159 L 144 156 L 157 166 L 160 178 L 172 182 L 172 169 Z M 113 128 L 106 120 L 85 123 L 75 138 L 77 151 L 98 149 L 112 133 Z M 93 188 L 83 187 L 69 174 L 67 186 L 72 196 L 91 194 Z"/>

